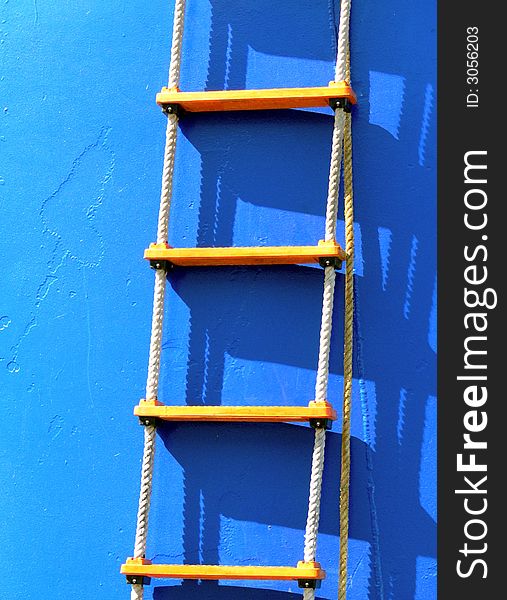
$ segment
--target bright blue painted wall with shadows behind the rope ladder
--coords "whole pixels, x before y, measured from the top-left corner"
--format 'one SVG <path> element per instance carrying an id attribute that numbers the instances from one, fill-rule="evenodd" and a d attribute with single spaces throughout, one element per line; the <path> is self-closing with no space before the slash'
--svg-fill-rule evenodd
<path id="1" fill-rule="evenodd" d="M 325 85 L 338 3 L 189 0 L 184 89 Z M 1 0 L 0 543 L 9 600 L 126 598 L 132 552 L 172 3 Z M 355 0 L 358 239 L 351 600 L 435 592 L 435 6 Z M 329 110 L 182 122 L 174 245 L 322 237 Z M 340 218 L 342 216 L 340 215 Z M 341 223 L 343 230 L 343 224 Z M 340 239 L 342 239 L 340 233 Z M 319 268 L 178 271 L 161 399 L 313 396 Z M 329 398 L 341 401 L 342 290 Z M 328 436 L 317 596 L 336 597 L 340 422 Z M 312 432 L 160 429 L 150 557 L 295 564 Z M 161 581 L 156 600 L 292 600 L 290 583 Z"/>

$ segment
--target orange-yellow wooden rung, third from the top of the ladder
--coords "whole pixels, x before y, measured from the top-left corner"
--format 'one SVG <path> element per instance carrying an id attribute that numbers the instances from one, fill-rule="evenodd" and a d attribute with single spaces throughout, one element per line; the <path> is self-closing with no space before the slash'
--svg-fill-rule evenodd
<path id="1" fill-rule="evenodd" d="M 292 423 L 336 419 L 336 411 L 331 404 L 313 400 L 308 406 L 167 406 L 156 400 L 141 400 L 134 408 L 134 414 L 163 421 Z"/>

